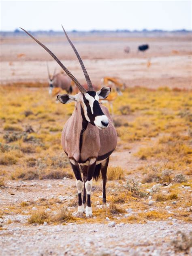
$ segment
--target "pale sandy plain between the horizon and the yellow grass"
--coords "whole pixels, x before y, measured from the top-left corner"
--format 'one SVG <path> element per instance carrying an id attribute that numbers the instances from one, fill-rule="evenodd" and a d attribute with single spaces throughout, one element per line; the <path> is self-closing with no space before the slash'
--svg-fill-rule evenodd
<path id="1" fill-rule="evenodd" d="M 62 36 L 38 37 L 81 81 L 85 82 L 73 50 Z M 168 37 L 80 36 L 72 39 L 95 84 L 104 76 L 119 77 L 127 86 L 191 87 L 191 35 Z M 149 50 L 137 52 L 138 45 L 149 43 Z M 129 46 L 130 53 L 124 53 Z M 19 55 L 23 54 L 23 55 Z M 47 81 L 46 61 L 50 70 L 57 66 L 48 53 L 28 37 L 6 37 L 1 42 L 1 83 Z M 147 67 L 147 62 L 151 66 Z M 53 71 L 52 71 L 53 72 Z"/>

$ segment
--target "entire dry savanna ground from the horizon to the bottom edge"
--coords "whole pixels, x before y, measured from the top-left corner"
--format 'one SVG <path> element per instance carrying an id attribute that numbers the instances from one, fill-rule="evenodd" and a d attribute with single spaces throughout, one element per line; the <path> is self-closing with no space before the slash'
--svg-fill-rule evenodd
<path id="1" fill-rule="evenodd" d="M 29 39 L 5 37 L 1 42 L 2 255 L 189 253 L 190 36 L 145 38 L 151 48 L 140 55 L 136 46 L 144 38 L 81 38 L 87 40 L 86 47 L 73 38 L 95 84 L 105 75 L 126 82 L 123 95 L 113 103 L 118 143 L 107 172 L 107 207 L 102 206 L 102 183 L 94 181 L 90 219 L 75 215 L 76 182 L 60 145 L 62 127 L 74 104 L 57 104 L 49 96 L 45 60 L 51 69 L 55 64 Z M 62 53 L 66 42 L 63 46 L 62 38 L 42 40 L 66 58 L 64 63 L 83 82 L 74 56 L 70 51 Z M 132 51 L 125 55 L 128 42 Z M 87 240 L 79 239 L 80 230 Z"/>

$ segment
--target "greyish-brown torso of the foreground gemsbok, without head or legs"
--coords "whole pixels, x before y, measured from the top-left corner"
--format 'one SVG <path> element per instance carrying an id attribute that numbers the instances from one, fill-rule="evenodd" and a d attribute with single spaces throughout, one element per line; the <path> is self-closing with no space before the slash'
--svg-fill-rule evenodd
<path id="1" fill-rule="evenodd" d="M 104 160 L 113 152 L 117 145 L 117 133 L 113 126 L 112 118 L 107 107 L 100 105 L 103 113 L 109 119 L 109 126 L 98 129 L 88 123 L 82 138 L 81 151 L 79 149 L 80 134 L 82 129 L 81 102 L 75 104 L 72 116 L 66 122 L 62 132 L 62 147 L 68 158 L 73 158 L 78 163 L 85 163 L 89 158 Z M 106 157 L 105 157 L 105 156 Z"/>

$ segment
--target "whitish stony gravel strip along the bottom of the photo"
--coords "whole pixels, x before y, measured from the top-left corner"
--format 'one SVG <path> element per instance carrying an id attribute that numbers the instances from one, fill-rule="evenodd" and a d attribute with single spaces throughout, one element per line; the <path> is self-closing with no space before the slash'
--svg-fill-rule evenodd
<path id="1" fill-rule="evenodd" d="M 1 255 L 184 255 L 175 253 L 171 242 L 177 238 L 177 231 L 185 230 L 188 234 L 192 228 L 192 224 L 164 222 L 108 225 L 9 225 L 2 232 Z"/>

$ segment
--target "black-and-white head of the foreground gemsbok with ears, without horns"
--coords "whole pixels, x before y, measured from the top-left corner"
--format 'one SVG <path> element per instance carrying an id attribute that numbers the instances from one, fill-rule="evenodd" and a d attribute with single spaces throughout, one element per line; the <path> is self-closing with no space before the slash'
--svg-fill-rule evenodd
<path id="1" fill-rule="evenodd" d="M 91 123 L 94 126 L 97 126 L 99 129 L 107 128 L 109 124 L 109 119 L 102 112 L 102 109 L 99 105 L 99 99 L 105 99 L 111 92 L 110 87 L 103 87 L 100 91 L 79 93 L 76 95 L 58 95 L 57 98 L 60 102 L 67 104 L 72 101 L 81 102 L 83 108 L 84 118 L 87 122 Z M 82 113 L 81 113 L 82 115 Z"/>

